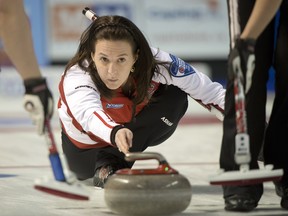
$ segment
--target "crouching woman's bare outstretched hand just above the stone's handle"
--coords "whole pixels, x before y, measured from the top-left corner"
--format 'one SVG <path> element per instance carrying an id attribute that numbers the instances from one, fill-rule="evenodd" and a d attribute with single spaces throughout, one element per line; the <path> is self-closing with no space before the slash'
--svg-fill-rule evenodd
<path id="1" fill-rule="evenodd" d="M 121 128 L 115 134 L 115 143 L 120 152 L 129 153 L 132 147 L 133 133 L 128 128 Z"/>

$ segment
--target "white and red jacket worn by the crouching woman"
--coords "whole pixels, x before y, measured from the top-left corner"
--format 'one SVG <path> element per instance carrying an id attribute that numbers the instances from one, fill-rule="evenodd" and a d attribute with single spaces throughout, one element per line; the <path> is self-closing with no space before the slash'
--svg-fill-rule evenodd
<path id="1" fill-rule="evenodd" d="M 171 62 L 170 74 L 160 67 L 151 82 L 151 94 L 160 83 L 174 85 L 185 91 L 209 111 L 224 110 L 225 89 L 188 63 L 167 52 L 151 48 L 156 58 Z M 132 102 L 117 94 L 111 101 L 102 98 L 90 75 L 78 65 L 62 75 L 59 83 L 60 98 L 58 113 L 63 131 L 79 148 L 98 148 L 112 145 L 110 135 L 113 127 L 128 122 L 132 113 Z M 149 92 L 150 93 L 150 92 Z M 136 114 L 145 106 L 136 107 Z M 127 117 L 128 116 L 128 117 Z M 218 118 L 221 118 L 218 115 Z"/>

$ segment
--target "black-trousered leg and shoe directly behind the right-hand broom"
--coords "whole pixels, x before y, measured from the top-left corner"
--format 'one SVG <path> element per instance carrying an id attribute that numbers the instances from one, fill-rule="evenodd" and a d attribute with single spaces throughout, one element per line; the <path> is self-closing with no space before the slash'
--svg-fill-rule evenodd
<path id="1" fill-rule="evenodd" d="M 240 18 L 241 31 L 244 29 L 255 1 L 238 1 L 238 13 Z M 229 0 L 228 0 L 228 10 Z M 229 25 L 232 23 L 229 20 Z M 256 43 L 255 70 L 252 77 L 252 86 L 245 95 L 247 128 L 250 137 L 250 151 L 252 161 L 250 169 L 258 169 L 258 155 L 263 144 L 265 120 L 266 120 L 266 83 L 268 80 L 269 68 L 273 59 L 273 21 L 265 32 L 259 37 Z M 246 77 L 244 73 L 244 80 Z M 223 138 L 220 154 L 220 167 L 225 171 L 239 170 L 235 163 L 235 136 L 236 117 L 233 79 L 227 79 L 225 97 L 225 117 L 223 121 Z M 263 194 L 263 185 L 247 186 L 223 186 L 223 197 L 225 209 L 230 211 L 250 211 L 253 210 Z"/>

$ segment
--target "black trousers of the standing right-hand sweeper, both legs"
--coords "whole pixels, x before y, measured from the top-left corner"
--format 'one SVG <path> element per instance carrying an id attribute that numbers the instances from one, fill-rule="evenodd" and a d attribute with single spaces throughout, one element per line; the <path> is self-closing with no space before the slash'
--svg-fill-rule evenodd
<path id="1" fill-rule="evenodd" d="M 229 0 L 227 2 L 229 12 L 230 11 Z M 254 0 L 238 1 L 239 5 L 238 13 L 240 18 L 241 31 L 243 31 L 248 21 L 254 3 L 255 3 Z M 271 118 L 270 121 L 268 122 L 266 139 L 264 141 L 264 160 L 265 163 L 274 164 L 276 168 L 283 167 L 284 164 L 285 167 L 288 166 L 288 157 L 287 157 L 288 152 L 286 147 L 288 143 L 287 138 L 288 70 L 287 70 L 287 61 L 285 62 L 286 58 L 288 57 L 287 1 L 284 1 L 282 3 L 281 10 L 282 10 L 281 11 L 282 18 L 280 21 L 280 25 L 283 25 L 282 28 L 284 28 L 286 32 L 284 32 L 284 29 L 282 29 L 281 31 L 280 27 L 280 31 L 278 32 L 278 38 L 277 38 L 275 60 L 273 59 L 275 20 L 272 20 L 269 26 L 267 26 L 265 31 L 261 34 L 261 36 L 257 40 L 256 52 L 255 52 L 256 65 L 252 76 L 252 86 L 250 91 L 245 95 L 247 127 L 248 127 L 248 134 L 250 136 L 250 152 L 252 155 L 252 160 L 250 163 L 251 169 L 258 168 L 257 158 L 264 140 L 264 134 L 265 134 L 264 130 L 266 120 L 265 109 L 267 98 L 266 84 L 268 81 L 269 69 L 273 65 L 273 63 L 275 63 L 274 67 L 276 70 L 276 84 L 275 84 L 276 98 L 274 101 Z M 284 17 L 286 17 L 285 21 L 283 20 Z M 231 25 L 230 20 L 229 24 Z M 246 74 L 244 73 L 244 80 L 245 77 Z M 280 116 L 282 117 L 282 119 L 279 118 Z M 281 124 L 283 127 L 281 128 L 280 131 L 278 131 L 279 127 L 281 127 L 279 124 Z M 275 132 L 275 130 L 277 130 L 277 132 L 279 133 L 282 133 L 283 131 L 286 132 L 282 133 L 282 136 L 280 136 Z M 235 135 L 236 135 L 236 122 L 235 122 L 235 100 L 233 91 L 233 80 L 231 78 L 229 79 L 228 77 L 226 96 L 225 96 L 225 117 L 223 122 L 223 138 L 220 154 L 220 166 L 226 171 L 239 169 L 239 166 L 234 161 Z M 277 136 L 281 137 L 283 139 L 283 142 L 280 142 L 280 139 L 278 139 Z M 280 153 L 281 156 L 279 157 Z M 255 186 L 245 186 L 245 187 L 224 187 L 224 197 L 235 193 L 251 194 L 251 192 L 252 193 L 255 192 L 254 193 L 255 198 L 260 199 L 263 192 L 262 184 Z"/>

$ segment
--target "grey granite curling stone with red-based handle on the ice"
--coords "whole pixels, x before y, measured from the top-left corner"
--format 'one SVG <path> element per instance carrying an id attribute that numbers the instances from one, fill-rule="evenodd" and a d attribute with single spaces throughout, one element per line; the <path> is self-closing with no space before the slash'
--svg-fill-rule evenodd
<path id="1" fill-rule="evenodd" d="M 105 183 L 105 202 L 120 215 L 171 215 L 184 211 L 192 197 L 191 185 L 159 153 L 126 154 L 127 161 L 156 159 L 156 169 L 121 169 Z"/>

